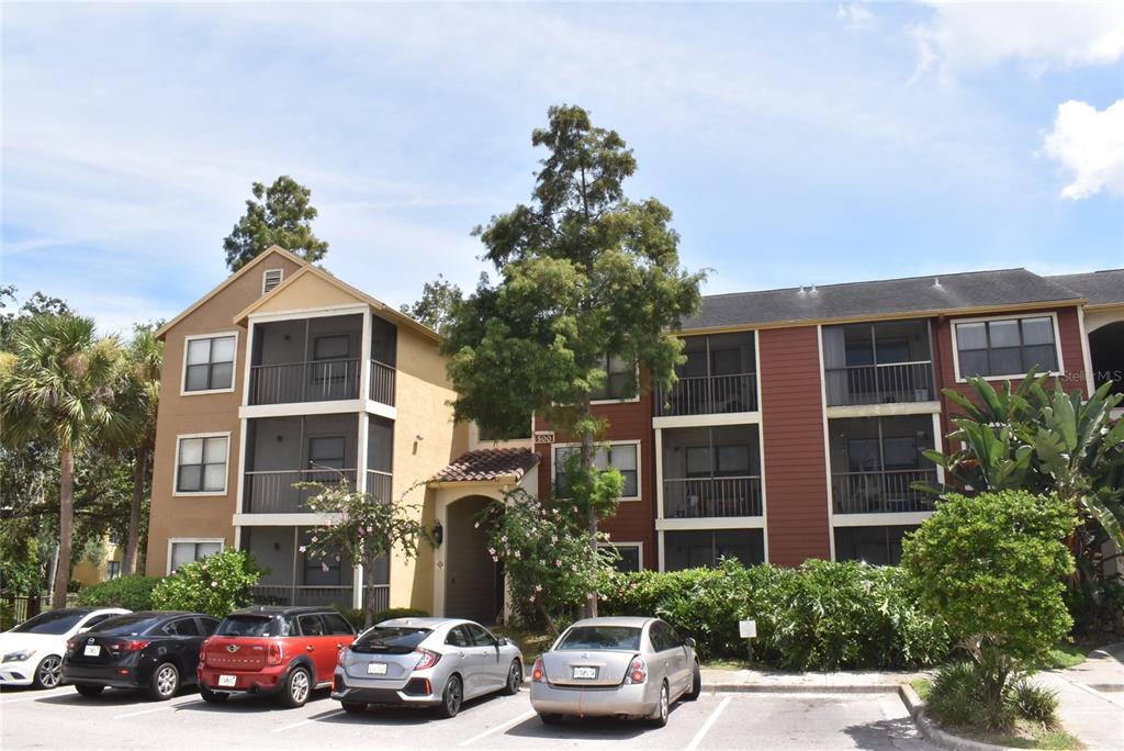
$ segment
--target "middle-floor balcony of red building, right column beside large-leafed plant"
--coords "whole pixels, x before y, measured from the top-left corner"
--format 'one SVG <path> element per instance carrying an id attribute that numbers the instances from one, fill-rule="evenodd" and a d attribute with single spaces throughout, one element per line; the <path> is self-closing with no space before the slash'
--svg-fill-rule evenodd
<path id="1" fill-rule="evenodd" d="M 932 418 L 832 419 L 828 433 L 836 514 L 933 510 L 933 496 L 913 488 L 937 479 L 933 462 L 922 453 L 934 447 Z"/>

